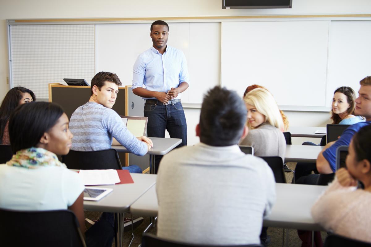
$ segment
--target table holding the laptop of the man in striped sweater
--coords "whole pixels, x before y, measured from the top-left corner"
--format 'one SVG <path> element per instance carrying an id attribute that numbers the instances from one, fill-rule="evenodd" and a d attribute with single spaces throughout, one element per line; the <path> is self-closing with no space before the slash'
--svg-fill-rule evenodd
<path id="1" fill-rule="evenodd" d="M 182 139 L 179 138 L 161 138 L 161 137 L 149 137 L 152 140 L 153 147 L 148 150 L 150 155 L 150 166 L 151 166 L 151 173 L 155 173 L 155 155 L 165 155 L 175 147 L 177 147 L 181 142 Z M 111 146 L 111 148 L 115 148 L 118 152 L 123 153 L 130 153 L 125 147 L 123 146 Z"/>

